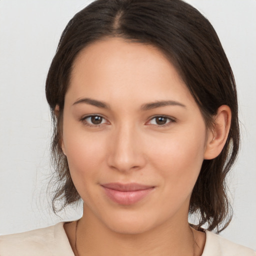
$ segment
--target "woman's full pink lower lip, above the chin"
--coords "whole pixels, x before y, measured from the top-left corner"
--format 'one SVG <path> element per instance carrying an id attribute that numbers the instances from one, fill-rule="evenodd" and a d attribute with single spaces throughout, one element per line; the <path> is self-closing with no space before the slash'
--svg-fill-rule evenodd
<path id="1" fill-rule="evenodd" d="M 136 203 L 142 200 L 146 195 L 148 195 L 154 188 L 150 187 L 147 189 L 141 189 L 136 191 L 119 191 L 115 189 L 111 189 L 108 187 L 104 187 L 106 195 L 119 204 L 129 205 Z"/>

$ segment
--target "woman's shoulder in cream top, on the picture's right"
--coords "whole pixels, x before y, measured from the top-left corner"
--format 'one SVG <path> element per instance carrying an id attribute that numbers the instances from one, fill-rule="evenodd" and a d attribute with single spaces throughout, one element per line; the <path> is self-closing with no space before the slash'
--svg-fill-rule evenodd
<path id="1" fill-rule="evenodd" d="M 202 256 L 256 256 L 256 252 L 243 245 L 231 242 L 210 231 L 206 232 L 206 241 Z"/>

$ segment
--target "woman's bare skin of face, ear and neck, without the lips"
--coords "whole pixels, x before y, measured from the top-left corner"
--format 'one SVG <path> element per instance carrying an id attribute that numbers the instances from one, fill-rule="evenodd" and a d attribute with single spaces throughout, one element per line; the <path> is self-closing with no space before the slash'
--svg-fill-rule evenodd
<path id="1" fill-rule="evenodd" d="M 175 104 L 141 109 L 163 100 Z M 92 114 L 102 122 L 93 124 Z M 159 125 L 155 116 L 162 115 L 166 122 Z M 193 255 L 193 249 L 201 255 L 205 234 L 189 227 L 189 199 L 203 159 L 221 151 L 230 118 L 229 107 L 221 106 L 208 130 L 172 63 L 151 45 L 106 38 L 81 50 L 62 127 L 62 150 L 84 202 L 76 230 L 79 255 Z M 108 182 L 153 189 L 140 201 L 121 205 L 106 196 L 101 184 Z M 75 224 L 64 228 L 77 254 Z"/>

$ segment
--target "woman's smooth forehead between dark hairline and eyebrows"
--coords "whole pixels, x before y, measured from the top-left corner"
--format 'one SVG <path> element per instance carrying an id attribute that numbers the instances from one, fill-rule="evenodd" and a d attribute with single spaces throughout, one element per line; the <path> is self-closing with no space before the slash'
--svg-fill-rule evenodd
<path id="1" fill-rule="evenodd" d="M 169 97 L 193 101 L 174 65 L 159 49 L 122 38 L 102 39 L 82 49 L 73 62 L 68 90 L 76 97 L 97 95 L 104 101 Z"/>

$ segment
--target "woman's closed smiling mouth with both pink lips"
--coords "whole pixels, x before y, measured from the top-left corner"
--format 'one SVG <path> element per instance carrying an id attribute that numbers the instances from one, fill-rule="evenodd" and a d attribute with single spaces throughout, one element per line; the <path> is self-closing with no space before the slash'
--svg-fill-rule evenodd
<path id="1" fill-rule="evenodd" d="M 105 183 L 101 186 L 108 198 L 122 205 L 136 203 L 154 190 L 154 186 L 138 183 Z"/>

